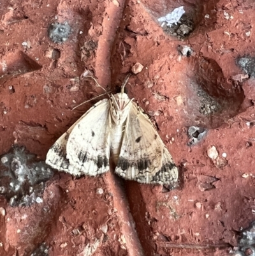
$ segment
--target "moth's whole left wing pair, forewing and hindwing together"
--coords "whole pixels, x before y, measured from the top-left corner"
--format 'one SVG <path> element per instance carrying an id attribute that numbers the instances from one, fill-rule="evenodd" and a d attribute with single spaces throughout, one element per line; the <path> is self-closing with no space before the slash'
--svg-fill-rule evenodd
<path id="1" fill-rule="evenodd" d="M 106 172 L 109 169 L 110 156 L 107 132 L 108 107 L 108 99 L 92 106 L 54 143 L 48 151 L 46 162 L 55 169 L 64 170 L 75 176 L 82 174 L 95 176 Z M 102 125 L 95 126 L 95 123 Z M 101 144 L 95 140 L 91 144 L 93 137 L 96 137 Z"/>

